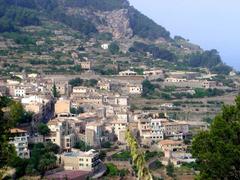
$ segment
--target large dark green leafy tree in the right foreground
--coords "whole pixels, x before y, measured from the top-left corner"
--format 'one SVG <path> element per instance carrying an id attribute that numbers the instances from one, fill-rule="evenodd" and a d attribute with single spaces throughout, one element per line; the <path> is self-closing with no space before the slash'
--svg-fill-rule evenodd
<path id="1" fill-rule="evenodd" d="M 215 117 L 209 131 L 196 135 L 192 154 L 198 179 L 240 179 L 240 96 Z"/>

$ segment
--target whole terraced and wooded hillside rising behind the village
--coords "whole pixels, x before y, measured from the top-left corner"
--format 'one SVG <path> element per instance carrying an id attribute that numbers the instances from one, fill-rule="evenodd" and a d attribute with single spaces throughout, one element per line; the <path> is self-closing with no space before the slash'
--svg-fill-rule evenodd
<path id="1" fill-rule="evenodd" d="M 127 0 L 0 0 L 0 38 L 2 74 L 79 73 L 72 52 L 93 60 L 101 74 L 129 65 L 232 70 L 216 50 L 204 52 L 180 36 L 171 38 Z M 106 43 L 119 50 L 103 50 Z"/>

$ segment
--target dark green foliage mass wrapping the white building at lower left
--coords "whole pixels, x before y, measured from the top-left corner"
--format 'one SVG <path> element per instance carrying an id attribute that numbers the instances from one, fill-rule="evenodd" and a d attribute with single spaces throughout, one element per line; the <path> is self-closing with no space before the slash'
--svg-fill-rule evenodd
<path id="1" fill-rule="evenodd" d="M 2 108 L 9 111 L 3 113 Z M 15 148 L 9 144 L 10 129 L 17 123 L 25 123 L 26 113 L 20 103 L 7 97 L 0 97 L 0 171 L 7 166 L 16 169 L 16 178 L 25 175 L 43 175 L 45 171 L 56 166 L 56 156 L 59 147 L 52 143 L 38 143 L 33 146 L 32 156 L 25 160 L 17 157 Z M 0 174 L 0 178 L 1 174 Z"/>

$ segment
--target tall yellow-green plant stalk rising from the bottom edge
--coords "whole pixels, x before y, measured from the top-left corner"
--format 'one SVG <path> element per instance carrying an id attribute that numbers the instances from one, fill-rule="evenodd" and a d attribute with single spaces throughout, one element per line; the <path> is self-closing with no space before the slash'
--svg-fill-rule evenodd
<path id="1" fill-rule="evenodd" d="M 144 153 L 139 150 L 138 143 L 129 129 L 126 132 L 126 141 L 130 147 L 132 162 L 137 169 L 138 178 L 152 180 L 152 175 L 149 169 L 145 166 L 146 161 L 144 158 Z"/>

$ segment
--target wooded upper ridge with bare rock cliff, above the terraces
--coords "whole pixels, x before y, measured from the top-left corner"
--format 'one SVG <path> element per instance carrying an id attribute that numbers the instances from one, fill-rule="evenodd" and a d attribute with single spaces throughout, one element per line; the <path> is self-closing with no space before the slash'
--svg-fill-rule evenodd
<path id="1" fill-rule="evenodd" d="M 63 24 L 87 39 L 107 35 L 110 39 L 104 41 L 116 41 L 124 53 L 141 56 L 150 53 L 153 60 L 184 64 L 185 68 L 205 67 L 215 72 L 223 68 L 225 74 L 232 70 L 217 51 L 203 51 L 179 36 L 171 38 L 169 31 L 130 6 L 127 0 L 0 0 L 0 33 L 5 36 L 15 33 L 7 37 L 27 37 L 23 27 L 43 27 L 43 19 Z M 18 42 L 24 44 L 26 37 Z M 33 45 L 34 41 L 29 42 Z"/>

